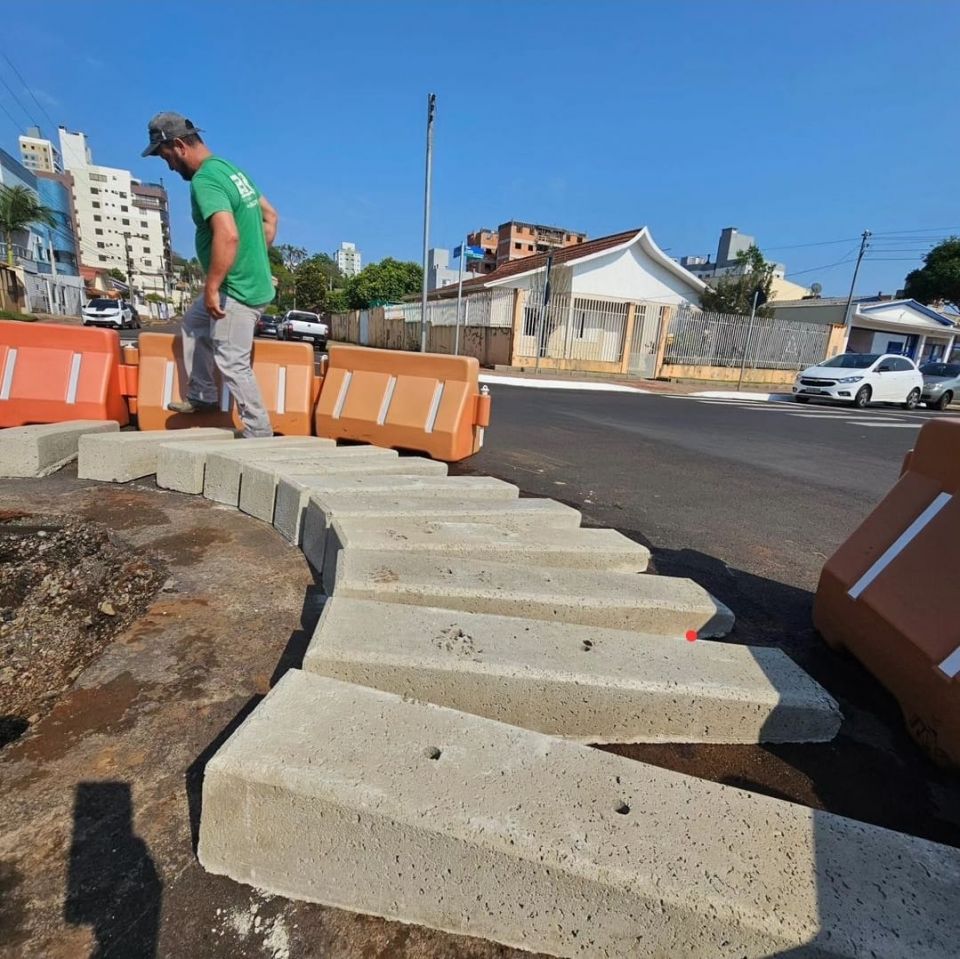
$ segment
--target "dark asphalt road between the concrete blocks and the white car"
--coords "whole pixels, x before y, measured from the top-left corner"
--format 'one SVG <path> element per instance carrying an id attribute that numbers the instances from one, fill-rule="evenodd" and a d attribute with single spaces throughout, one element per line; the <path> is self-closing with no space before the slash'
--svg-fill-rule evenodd
<path id="1" fill-rule="evenodd" d="M 960 845 L 960 778 L 929 762 L 892 698 L 814 632 L 824 561 L 952 413 L 491 386 L 485 448 L 457 468 L 517 483 L 646 544 L 657 572 L 730 606 L 730 641 L 785 650 L 838 700 L 830 744 L 618 748 L 637 759 Z M 855 771 L 855 773 L 854 773 Z"/>

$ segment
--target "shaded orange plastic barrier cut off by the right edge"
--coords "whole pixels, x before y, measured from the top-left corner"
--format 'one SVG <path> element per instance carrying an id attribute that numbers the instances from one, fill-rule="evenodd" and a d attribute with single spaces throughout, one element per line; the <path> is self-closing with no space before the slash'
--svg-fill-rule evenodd
<path id="1" fill-rule="evenodd" d="M 896 697 L 911 735 L 960 764 L 960 419 L 927 423 L 904 472 L 820 575 L 813 621 Z"/>

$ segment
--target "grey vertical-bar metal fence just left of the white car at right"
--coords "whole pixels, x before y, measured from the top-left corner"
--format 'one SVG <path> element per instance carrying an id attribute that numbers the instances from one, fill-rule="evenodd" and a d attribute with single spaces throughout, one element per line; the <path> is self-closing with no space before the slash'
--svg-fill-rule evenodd
<path id="1" fill-rule="evenodd" d="M 830 327 L 732 313 L 674 314 L 667 332 L 664 362 L 690 366 L 740 366 L 793 370 L 812 366 L 826 355 Z"/>

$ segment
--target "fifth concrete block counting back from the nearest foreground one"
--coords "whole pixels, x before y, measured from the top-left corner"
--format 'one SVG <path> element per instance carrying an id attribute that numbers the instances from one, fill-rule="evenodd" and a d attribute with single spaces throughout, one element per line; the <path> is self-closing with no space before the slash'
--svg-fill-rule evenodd
<path id="1" fill-rule="evenodd" d="M 518 499 L 505 503 L 469 501 L 438 502 L 428 494 L 402 496 L 338 496 L 310 493 L 300 523 L 300 548 L 318 569 L 323 569 L 327 533 L 335 518 L 380 517 L 397 519 L 454 520 L 463 523 L 491 523 L 504 529 L 578 529 L 580 513 L 552 499 Z"/>

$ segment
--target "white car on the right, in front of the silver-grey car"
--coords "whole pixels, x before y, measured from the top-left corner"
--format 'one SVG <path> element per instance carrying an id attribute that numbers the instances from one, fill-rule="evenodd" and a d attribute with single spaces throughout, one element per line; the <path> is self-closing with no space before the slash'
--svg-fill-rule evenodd
<path id="1" fill-rule="evenodd" d="M 893 353 L 841 353 L 797 374 L 793 398 L 837 400 L 863 409 L 869 403 L 899 403 L 915 409 L 923 376 L 908 356 Z"/>

